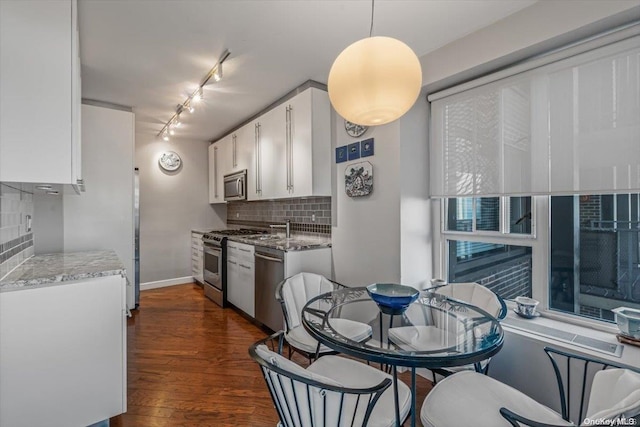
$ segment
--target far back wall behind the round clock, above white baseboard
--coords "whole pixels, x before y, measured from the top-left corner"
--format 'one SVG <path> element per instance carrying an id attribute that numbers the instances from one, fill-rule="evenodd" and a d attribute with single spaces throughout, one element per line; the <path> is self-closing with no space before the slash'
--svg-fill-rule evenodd
<path id="1" fill-rule="evenodd" d="M 191 276 L 191 229 L 224 228 L 226 205 L 208 203 L 206 141 L 136 134 L 140 169 L 140 282 Z M 182 167 L 163 172 L 158 158 L 175 151 Z"/>

